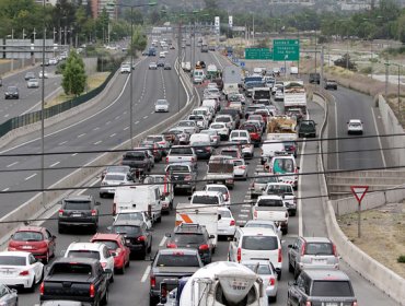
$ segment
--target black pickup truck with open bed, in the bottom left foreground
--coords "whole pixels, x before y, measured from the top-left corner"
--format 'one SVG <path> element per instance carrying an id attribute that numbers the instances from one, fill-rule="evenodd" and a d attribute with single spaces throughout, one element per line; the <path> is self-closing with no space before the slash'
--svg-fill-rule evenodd
<path id="1" fill-rule="evenodd" d="M 108 302 L 108 275 L 93 258 L 59 258 L 48 269 L 40 284 L 40 302 L 73 299 L 90 305 L 106 305 Z"/>

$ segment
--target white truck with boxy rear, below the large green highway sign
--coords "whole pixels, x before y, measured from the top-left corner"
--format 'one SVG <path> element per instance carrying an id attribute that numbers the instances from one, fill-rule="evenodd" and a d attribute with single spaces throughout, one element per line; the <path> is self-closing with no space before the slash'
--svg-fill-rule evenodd
<path id="1" fill-rule="evenodd" d="M 284 83 L 285 113 L 290 108 L 301 108 L 306 114 L 306 91 L 303 81 L 288 81 Z"/>

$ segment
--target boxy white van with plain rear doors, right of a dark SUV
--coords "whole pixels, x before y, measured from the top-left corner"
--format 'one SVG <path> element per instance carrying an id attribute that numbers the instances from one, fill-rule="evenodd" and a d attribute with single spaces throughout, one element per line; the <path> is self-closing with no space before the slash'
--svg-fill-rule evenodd
<path id="1" fill-rule="evenodd" d="M 114 195 L 113 215 L 125 210 L 149 212 L 153 222 L 162 220 L 162 196 L 158 185 L 123 186 Z"/>

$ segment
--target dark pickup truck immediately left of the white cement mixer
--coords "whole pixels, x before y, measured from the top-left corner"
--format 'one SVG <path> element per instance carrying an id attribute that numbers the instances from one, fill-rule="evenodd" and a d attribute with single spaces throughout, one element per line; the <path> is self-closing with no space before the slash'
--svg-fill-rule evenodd
<path id="1" fill-rule="evenodd" d="M 150 273 L 150 305 L 155 305 L 160 299 L 160 284 L 166 283 L 166 291 L 177 287 L 178 280 L 190 276 L 204 263 L 197 249 L 171 248 L 160 249 L 153 259 Z"/>

